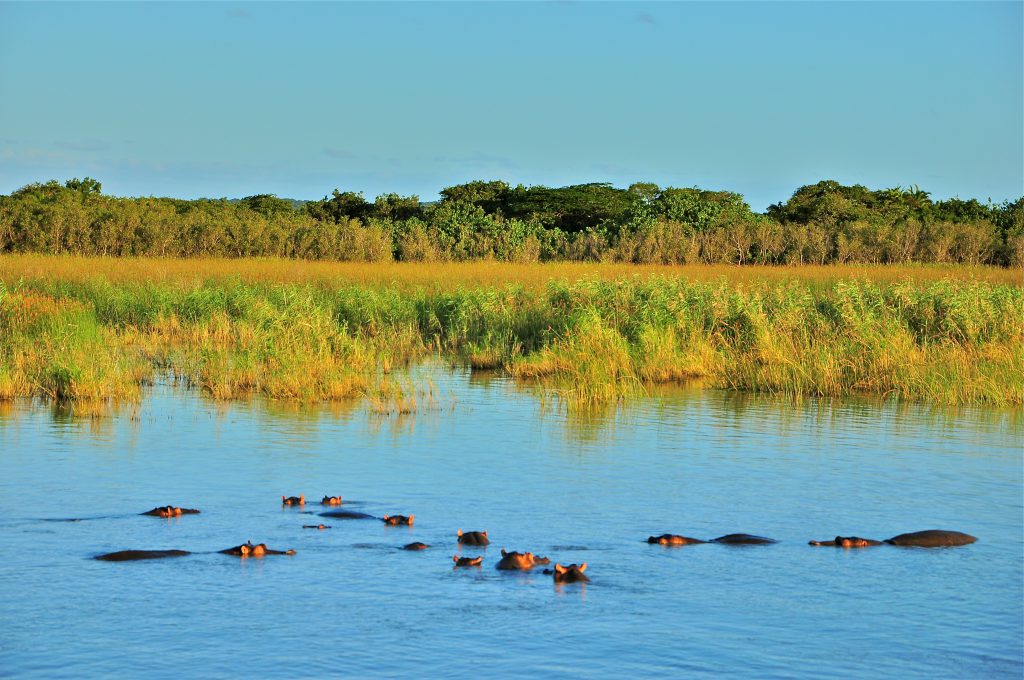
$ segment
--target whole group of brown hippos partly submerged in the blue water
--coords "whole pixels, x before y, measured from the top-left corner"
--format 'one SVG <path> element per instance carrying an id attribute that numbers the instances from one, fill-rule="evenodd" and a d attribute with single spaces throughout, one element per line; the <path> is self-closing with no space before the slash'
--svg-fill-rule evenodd
<path id="1" fill-rule="evenodd" d="M 282 505 L 284 506 L 297 506 L 303 507 L 306 503 L 306 497 L 303 496 L 282 496 Z M 323 506 L 340 506 L 342 504 L 340 496 L 325 496 L 321 501 Z M 193 508 L 180 508 L 173 505 L 166 505 L 156 507 L 153 510 L 148 510 L 141 514 L 153 515 L 156 517 L 180 517 L 181 515 L 195 515 L 199 514 L 199 510 Z M 369 515 L 362 512 L 352 512 L 348 510 L 331 510 L 321 513 L 322 517 L 334 517 L 339 519 L 380 519 L 385 524 L 390 526 L 412 526 L 414 522 L 413 515 L 384 515 L 383 517 L 375 517 L 374 515 Z M 328 529 L 331 528 L 328 524 L 303 524 L 303 528 L 315 528 L 315 529 Z M 486 532 L 463 532 L 459 529 L 456 538 L 461 546 L 486 546 L 490 544 L 490 540 L 487 538 Z M 903 547 L 915 547 L 915 548 L 947 548 L 952 546 L 965 546 L 977 541 L 975 537 L 969 534 L 963 534 L 961 532 L 949 532 L 944 529 L 928 529 L 924 532 L 913 532 L 911 534 L 900 534 L 899 536 L 894 536 L 891 539 L 886 539 L 885 541 L 874 541 L 872 539 L 863 539 L 858 536 L 837 536 L 830 541 L 811 541 L 809 545 L 812 546 L 833 546 L 836 548 L 866 548 L 869 546 L 880 546 L 883 544 L 889 544 L 893 546 L 903 546 Z M 742 545 L 768 545 L 772 543 L 777 543 L 774 539 L 767 539 L 763 536 L 753 536 L 751 534 L 727 534 L 726 536 L 720 536 L 717 539 L 711 539 L 709 541 L 702 541 L 700 539 L 693 539 L 686 536 L 679 536 L 676 534 L 663 534 L 660 536 L 651 536 L 647 539 L 647 543 L 656 544 L 663 546 L 687 546 L 702 543 L 718 543 L 724 545 L 742 546 Z M 410 543 L 402 546 L 402 550 L 426 550 L 429 548 L 425 543 Z M 294 555 L 294 550 L 271 550 L 264 543 L 253 544 L 252 541 L 246 542 L 241 546 L 234 546 L 233 548 L 226 548 L 224 550 L 218 551 L 225 555 L 236 555 L 238 557 L 262 557 L 264 555 Z M 129 560 L 139 560 L 139 559 L 159 559 L 163 557 L 180 557 L 183 555 L 189 555 L 186 550 L 120 550 L 117 552 L 106 553 L 103 555 L 98 555 L 96 559 L 112 562 L 122 562 Z M 483 563 L 482 556 L 476 557 L 460 557 L 459 555 L 453 555 L 452 561 L 455 563 L 455 567 L 467 567 L 467 566 L 480 566 Z M 539 557 L 531 552 L 508 552 L 502 550 L 502 558 L 498 561 L 496 565 L 499 569 L 505 570 L 529 570 L 535 566 L 550 564 L 551 560 L 547 557 Z M 582 564 L 569 564 L 563 566 L 561 564 L 555 564 L 554 568 L 544 569 L 544 573 L 550 573 L 556 583 L 582 583 L 590 581 L 587 575 L 584 573 L 587 570 L 587 563 Z"/>

